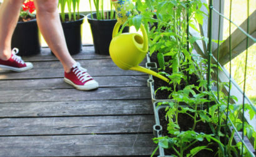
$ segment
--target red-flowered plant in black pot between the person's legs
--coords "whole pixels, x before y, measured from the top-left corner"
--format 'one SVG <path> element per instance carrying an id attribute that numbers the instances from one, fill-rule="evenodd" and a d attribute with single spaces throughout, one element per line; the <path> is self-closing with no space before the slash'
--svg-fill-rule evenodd
<path id="1" fill-rule="evenodd" d="M 41 51 L 36 15 L 33 14 L 34 2 L 23 3 L 18 24 L 14 30 L 11 47 L 19 49 L 19 56 L 31 56 Z"/>

